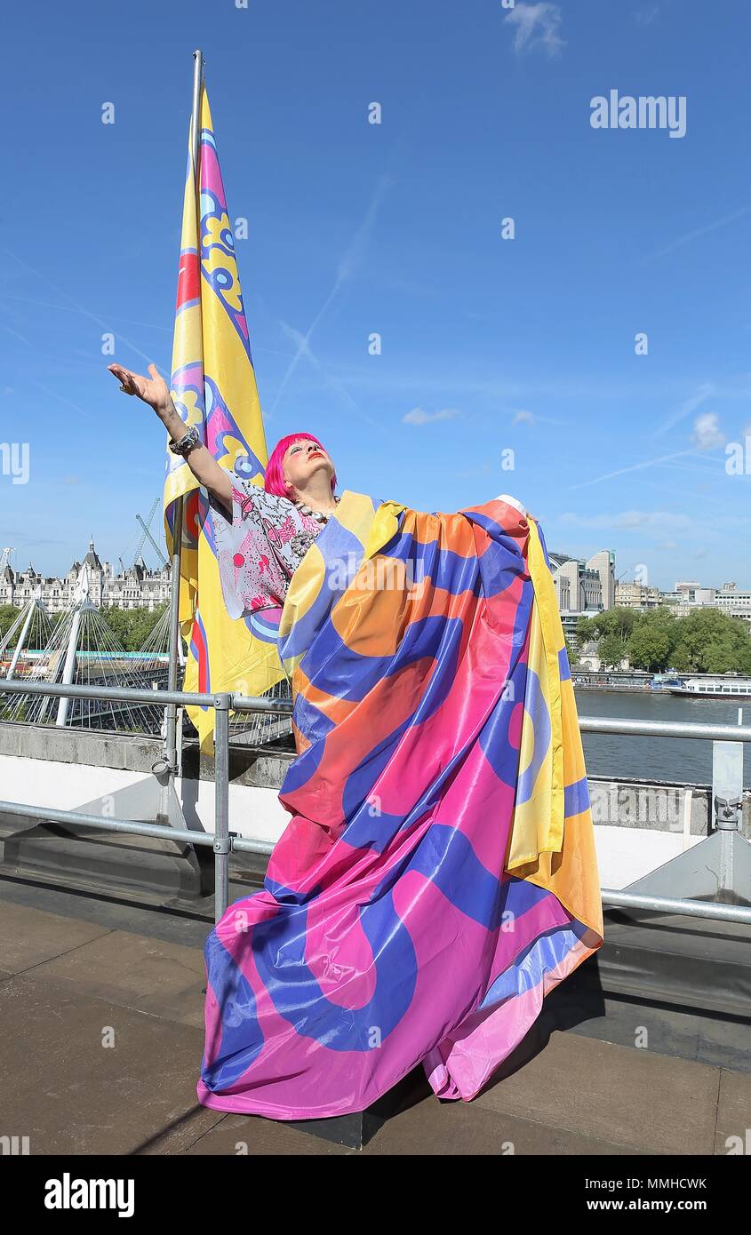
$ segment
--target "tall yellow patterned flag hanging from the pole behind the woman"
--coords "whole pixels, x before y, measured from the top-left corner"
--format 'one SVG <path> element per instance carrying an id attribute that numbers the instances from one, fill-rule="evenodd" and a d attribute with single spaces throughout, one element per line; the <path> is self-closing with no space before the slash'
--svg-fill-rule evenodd
<path id="1" fill-rule="evenodd" d="M 190 136 L 172 351 L 172 399 L 230 477 L 263 484 L 268 450 L 256 385 L 232 224 L 219 165 L 209 96 L 201 83 L 200 140 Z M 257 695 L 284 678 L 269 615 L 227 615 L 208 495 L 188 462 L 167 448 L 164 536 L 172 556 L 175 500 L 184 494 L 179 624 L 188 645 L 185 690 Z M 273 611 L 272 611 L 273 614 Z M 188 708 L 200 748 L 212 752 L 214 709 Z"/>

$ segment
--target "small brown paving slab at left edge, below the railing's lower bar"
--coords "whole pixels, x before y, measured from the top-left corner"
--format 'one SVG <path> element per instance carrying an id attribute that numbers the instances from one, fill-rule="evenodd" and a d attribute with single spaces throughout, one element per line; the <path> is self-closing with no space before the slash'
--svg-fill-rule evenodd
<path id="1" fill-rule="evenodd" d="M 0 903 L 0 966 L 10 973 L 22 973 L 110 931 L 109 926 L 96 923 L 4 900 Z"/>

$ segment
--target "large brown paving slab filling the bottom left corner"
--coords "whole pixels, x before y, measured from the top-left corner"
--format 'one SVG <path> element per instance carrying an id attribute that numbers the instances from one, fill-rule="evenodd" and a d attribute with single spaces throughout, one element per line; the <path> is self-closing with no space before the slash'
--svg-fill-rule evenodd
<path id="1" fill-rule="evenodd" d="M 28 1136 L 32 1155 L 140 1152 L 203 1110 L 203 1035 L 189 1025 L 26 976 L 0 986 L 0 1132 Z"/>

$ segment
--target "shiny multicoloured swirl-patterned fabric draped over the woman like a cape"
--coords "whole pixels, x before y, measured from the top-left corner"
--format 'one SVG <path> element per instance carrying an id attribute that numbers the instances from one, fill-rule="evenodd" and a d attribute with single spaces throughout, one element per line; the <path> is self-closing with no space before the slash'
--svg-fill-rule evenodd
<path id="1" fill-rule="evenodd" d="M 345 490 L 279 625 L 292 814 L 205 947 L 198 1095 L 315 1119 L 416 1065 L 471 1099 L 603 942 L 555 585 L 532 517 Z"/>

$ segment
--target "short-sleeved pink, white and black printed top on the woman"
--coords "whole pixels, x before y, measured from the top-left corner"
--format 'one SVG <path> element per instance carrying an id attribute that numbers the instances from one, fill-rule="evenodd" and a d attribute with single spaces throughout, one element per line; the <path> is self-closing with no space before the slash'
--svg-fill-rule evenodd
<path id="1" fill-rule="evenodd" d="M 284 604 L 289 580 L 326 526 L 289 498 L 232 477 L 232 519 L 209 494 L 219 576 L 230 618 Z"/>

